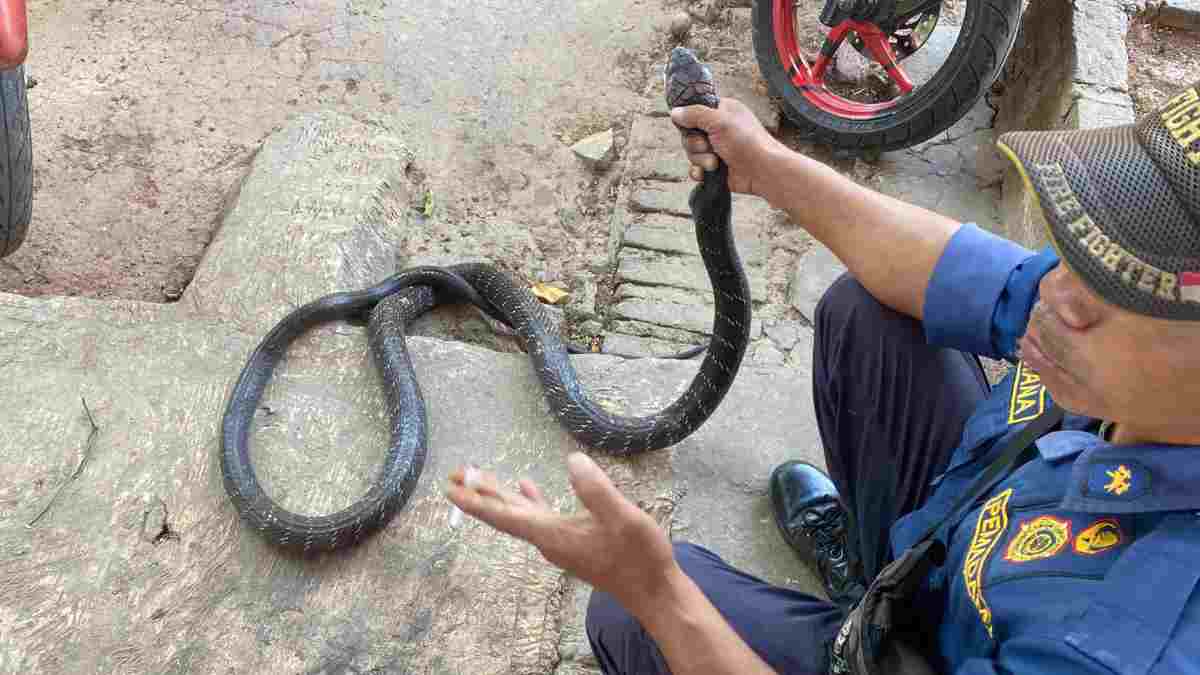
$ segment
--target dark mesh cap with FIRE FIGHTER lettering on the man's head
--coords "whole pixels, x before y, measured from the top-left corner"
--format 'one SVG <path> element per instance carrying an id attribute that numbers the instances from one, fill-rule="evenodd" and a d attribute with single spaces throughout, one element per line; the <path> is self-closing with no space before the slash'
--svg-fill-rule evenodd
<path id="1" fill-rule="evenodd" d="M 1058 256 L 1105 300 L 1200 321 L 1200 82 L 1136 124 L 1015 131 L 997 145 Z"/>

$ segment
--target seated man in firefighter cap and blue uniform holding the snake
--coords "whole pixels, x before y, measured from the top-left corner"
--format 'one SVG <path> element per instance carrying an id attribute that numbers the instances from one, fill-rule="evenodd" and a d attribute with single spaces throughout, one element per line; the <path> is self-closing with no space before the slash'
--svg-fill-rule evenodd
<path id="1" fill-rule="evenodd" d="M 1018 430 L 1069 411 L 964 515 L 914 599 L 935 670 L 1200 671 L 1200 86 L 1140 124 L 1009 133 L 1054 244 L 1033 253 L 860 187 L 740 103 L 672 110 L 692 178 L 785 209 L 850 273 L 817 309 L 814 399 L 832 479 L 770 477 L 784 537 L 833 602 L 672 544 L 587 456 L 587 513 L 485 474 L 463 510 L 595 587 L 606 673 L 828 673 L 847 609 Z M 715 151 L 715 155 L 714 155 Z M 1014 368 L 989 388 L 974 354 Z"/>

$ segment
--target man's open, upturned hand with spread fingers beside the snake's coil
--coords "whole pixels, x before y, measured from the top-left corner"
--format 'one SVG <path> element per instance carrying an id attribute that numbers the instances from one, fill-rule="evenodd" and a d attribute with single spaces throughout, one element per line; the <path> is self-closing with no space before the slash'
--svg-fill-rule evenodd
<path id="1" fill-rule="evenodd" d="M 518 483 L 517 494 L 500 488 L 486 472 L 478 472 L 470 489 L 464 485 L 466 471 L 455 471 L 446 496 L 464 513 L 529 542 L 546 560 L 611 593 L 636 614 L 670 587 L 673 575 L 682 574 L 671 542 L 589 456 L 571 454 L 566 468 L 587 508 L 578 515 L 557 513 L 529 480 Z"/>

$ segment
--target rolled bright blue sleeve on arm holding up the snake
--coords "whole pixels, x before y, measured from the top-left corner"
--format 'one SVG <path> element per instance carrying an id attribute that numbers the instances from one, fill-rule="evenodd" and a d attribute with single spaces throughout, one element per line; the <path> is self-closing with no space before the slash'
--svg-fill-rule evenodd
<path id="1" fill-rule="evenodd" d="M 934 267 L 925 291 L 926 340 L 973 354 L 1012 358 L 1038 298 L 1038 283 L 1057 263 L 1049 246 L 1034 253 L 964 225 Z"/>

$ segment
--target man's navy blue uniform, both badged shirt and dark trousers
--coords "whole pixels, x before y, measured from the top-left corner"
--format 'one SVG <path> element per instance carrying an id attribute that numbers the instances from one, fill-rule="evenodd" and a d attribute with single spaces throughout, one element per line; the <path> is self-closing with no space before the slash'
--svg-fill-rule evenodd
<path id="1" fill-rule="evenodd" d="M 1015 363 L 989 388 L 971 354 L 1012 360 L 1038 282 L 1056 264 L 1052 250 L 1034 253 L 968 225 L 935 269 L 924 322 L 883 307 L 850 277 L 822 300 L 817 420 L 868 579 L 947 515 L 1007 436 L 1050 407 L 1037 374 Z M 1100 420 L 1068 414 L 1038 450 L 943 531 L 947 562 L 918 598 L 937 632 L 935 667 L 1200 673 L 1198 448 L 1111 446 Z M 828 671 L 839 608 L 698 546 L 679 544 L 677 557 L 769 664 Z M 588 635 L 607 673 L 667 673 L 636 621 L 600 592 Z"/>

